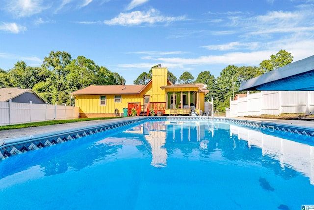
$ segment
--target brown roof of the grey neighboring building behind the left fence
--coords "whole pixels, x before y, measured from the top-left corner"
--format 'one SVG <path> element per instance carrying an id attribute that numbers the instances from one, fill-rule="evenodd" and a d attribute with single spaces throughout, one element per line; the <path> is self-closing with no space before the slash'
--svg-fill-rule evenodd
<path id="1" fill-rule="evenodd" d="M 36 92 L 31 90 L 30 88 L 0 88 L 0 101 L 9 101 L 9 99 L 16 98 L 19 95 L 22 95 L 25 92 L 30 92 L 35 94 L 42 101 L 46 102 L 43 98 L 41 98 Z"/>

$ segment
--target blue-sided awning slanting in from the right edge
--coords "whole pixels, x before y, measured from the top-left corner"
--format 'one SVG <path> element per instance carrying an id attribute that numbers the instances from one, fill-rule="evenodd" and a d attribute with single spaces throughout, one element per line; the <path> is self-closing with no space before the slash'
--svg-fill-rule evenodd
<path id="1" fill-rule="evenodd" d="M 314 55 L 247 80 L 239 90 L 314 90 Z"/>

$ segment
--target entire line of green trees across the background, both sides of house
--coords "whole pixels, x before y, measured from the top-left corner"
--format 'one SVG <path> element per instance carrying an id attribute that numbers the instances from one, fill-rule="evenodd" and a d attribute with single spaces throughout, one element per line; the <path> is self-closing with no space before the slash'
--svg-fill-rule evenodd
<path id="1" fill-rule="evenodd" d="M 202 71 L 194 80 L 193 75 L 186 71 L 177 79 L 168 71 L 168 80 L 173 84 L 178 82 L 207 85 L 209 93 L 206 94 L 205 100 L 214 98 L 216 109 L 223 111 L 229 106 L 229 97 L 242 93 L 239 91 L 242 82 L 292 61 L 291 53 L 280 50 L 276 55 L 271 55 L 270 59 L 263 60 L 258 67 L 228 65 L 217 78 L 210 71 Z M 152 69 L 148 73 L 141 73 L 134 84 L 147 84 L 151 78 Z M 70 93 L 90 85 L 122 83 L 125 83 L 125 79 L 118 73 L 98 66 L 84 56 L 72 59 L 71 54 L 64 51 L 51 51 L 49 56 L 44 58 L 41 67 L 30 67 L 24 61 L 18 61 L 13 69 L 8 71 L 0 69 L 0 87 L 31 88 L 50 104 L 73 104 L 74 101 L 69 97 Z"/>

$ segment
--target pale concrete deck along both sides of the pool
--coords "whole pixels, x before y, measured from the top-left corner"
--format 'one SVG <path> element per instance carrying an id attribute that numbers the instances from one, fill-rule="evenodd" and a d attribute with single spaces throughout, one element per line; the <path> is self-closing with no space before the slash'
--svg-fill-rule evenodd
<path id="1" fill-rule="evenodd" d="M 84 127 L 93 127 L 100 126 L 107 123 L 115 123 L 125 120 L 135 120 L 145 117 L 128 117 L 128 118 L 116 118 L 116 119 L 108 119 L 108 120 L 96 120 L 96 121 L 84 121 L 84 122 L 74 122 L 67 124 L 57 124 L 57 125 L 48 125 L 48 126 L 40 126 L 40 127 L 29 127 L 29 128 L 20 128 L 13 130 L 3 130 L 0 131 L 0 140 L 7 138 L 18 138 L 23 136 L 30 135 L 44 135 L 49 133 L 56 132 L 66 132 L 68 130 L 81 129 Z M 225 117 L 220 117 L 225 118 Z M 279 120 L 279 119 L 265 119 L 265 118 L 246 118 L 246 117 L 228 117 L 229 119 L 235 120 L 246 120 L 246 121 L 257 121 L 257 122 L 265 122 L 265 123 L 274 123 L 281 124 L 286 126 L 297 126 L 304 127 L 309 129 L 314 129 L 314 121 L 306 121 L 306 120 Z"/>

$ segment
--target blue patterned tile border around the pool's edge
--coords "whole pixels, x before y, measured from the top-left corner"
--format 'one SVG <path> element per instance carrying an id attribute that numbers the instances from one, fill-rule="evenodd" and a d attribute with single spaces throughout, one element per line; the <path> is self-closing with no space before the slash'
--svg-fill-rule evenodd
<path id="1" fill-rule="evenodd" d="M 98 126 L 82 127 L 81 129 L 75 129 L 63 133 L 55 133 L 51 135 L 37 135 L 37 136 L 25 136 L 19 138 L 12 138 L 8 140 L 2 140 L 0 142 L 0 161 L 31 150 L 38 150 L 44 147 L 52 146 L 55 144 L 72 141 L 84 136 L 92 135 L 95 133 L 104 132 L 114 128 L 118 128 L 132 123 L 141 122 L 144 120 L 216 120 L 225 121 L 232 124 L 238 124 L 258 130 L 280 130 L 283 132 L 312 136 L 314 137 L 314 128 L 306 128 L 300 126 L 288 126 L 279 123 L 258 122 L 253 120 L 240 120 L 231 118 L 211 118 L 211 117 L 191 117 L 191 116 L 154 116 L 154 117 L 142 117 L 134 120 L 121 120 L 117 122 L 104 123 Z"/>

